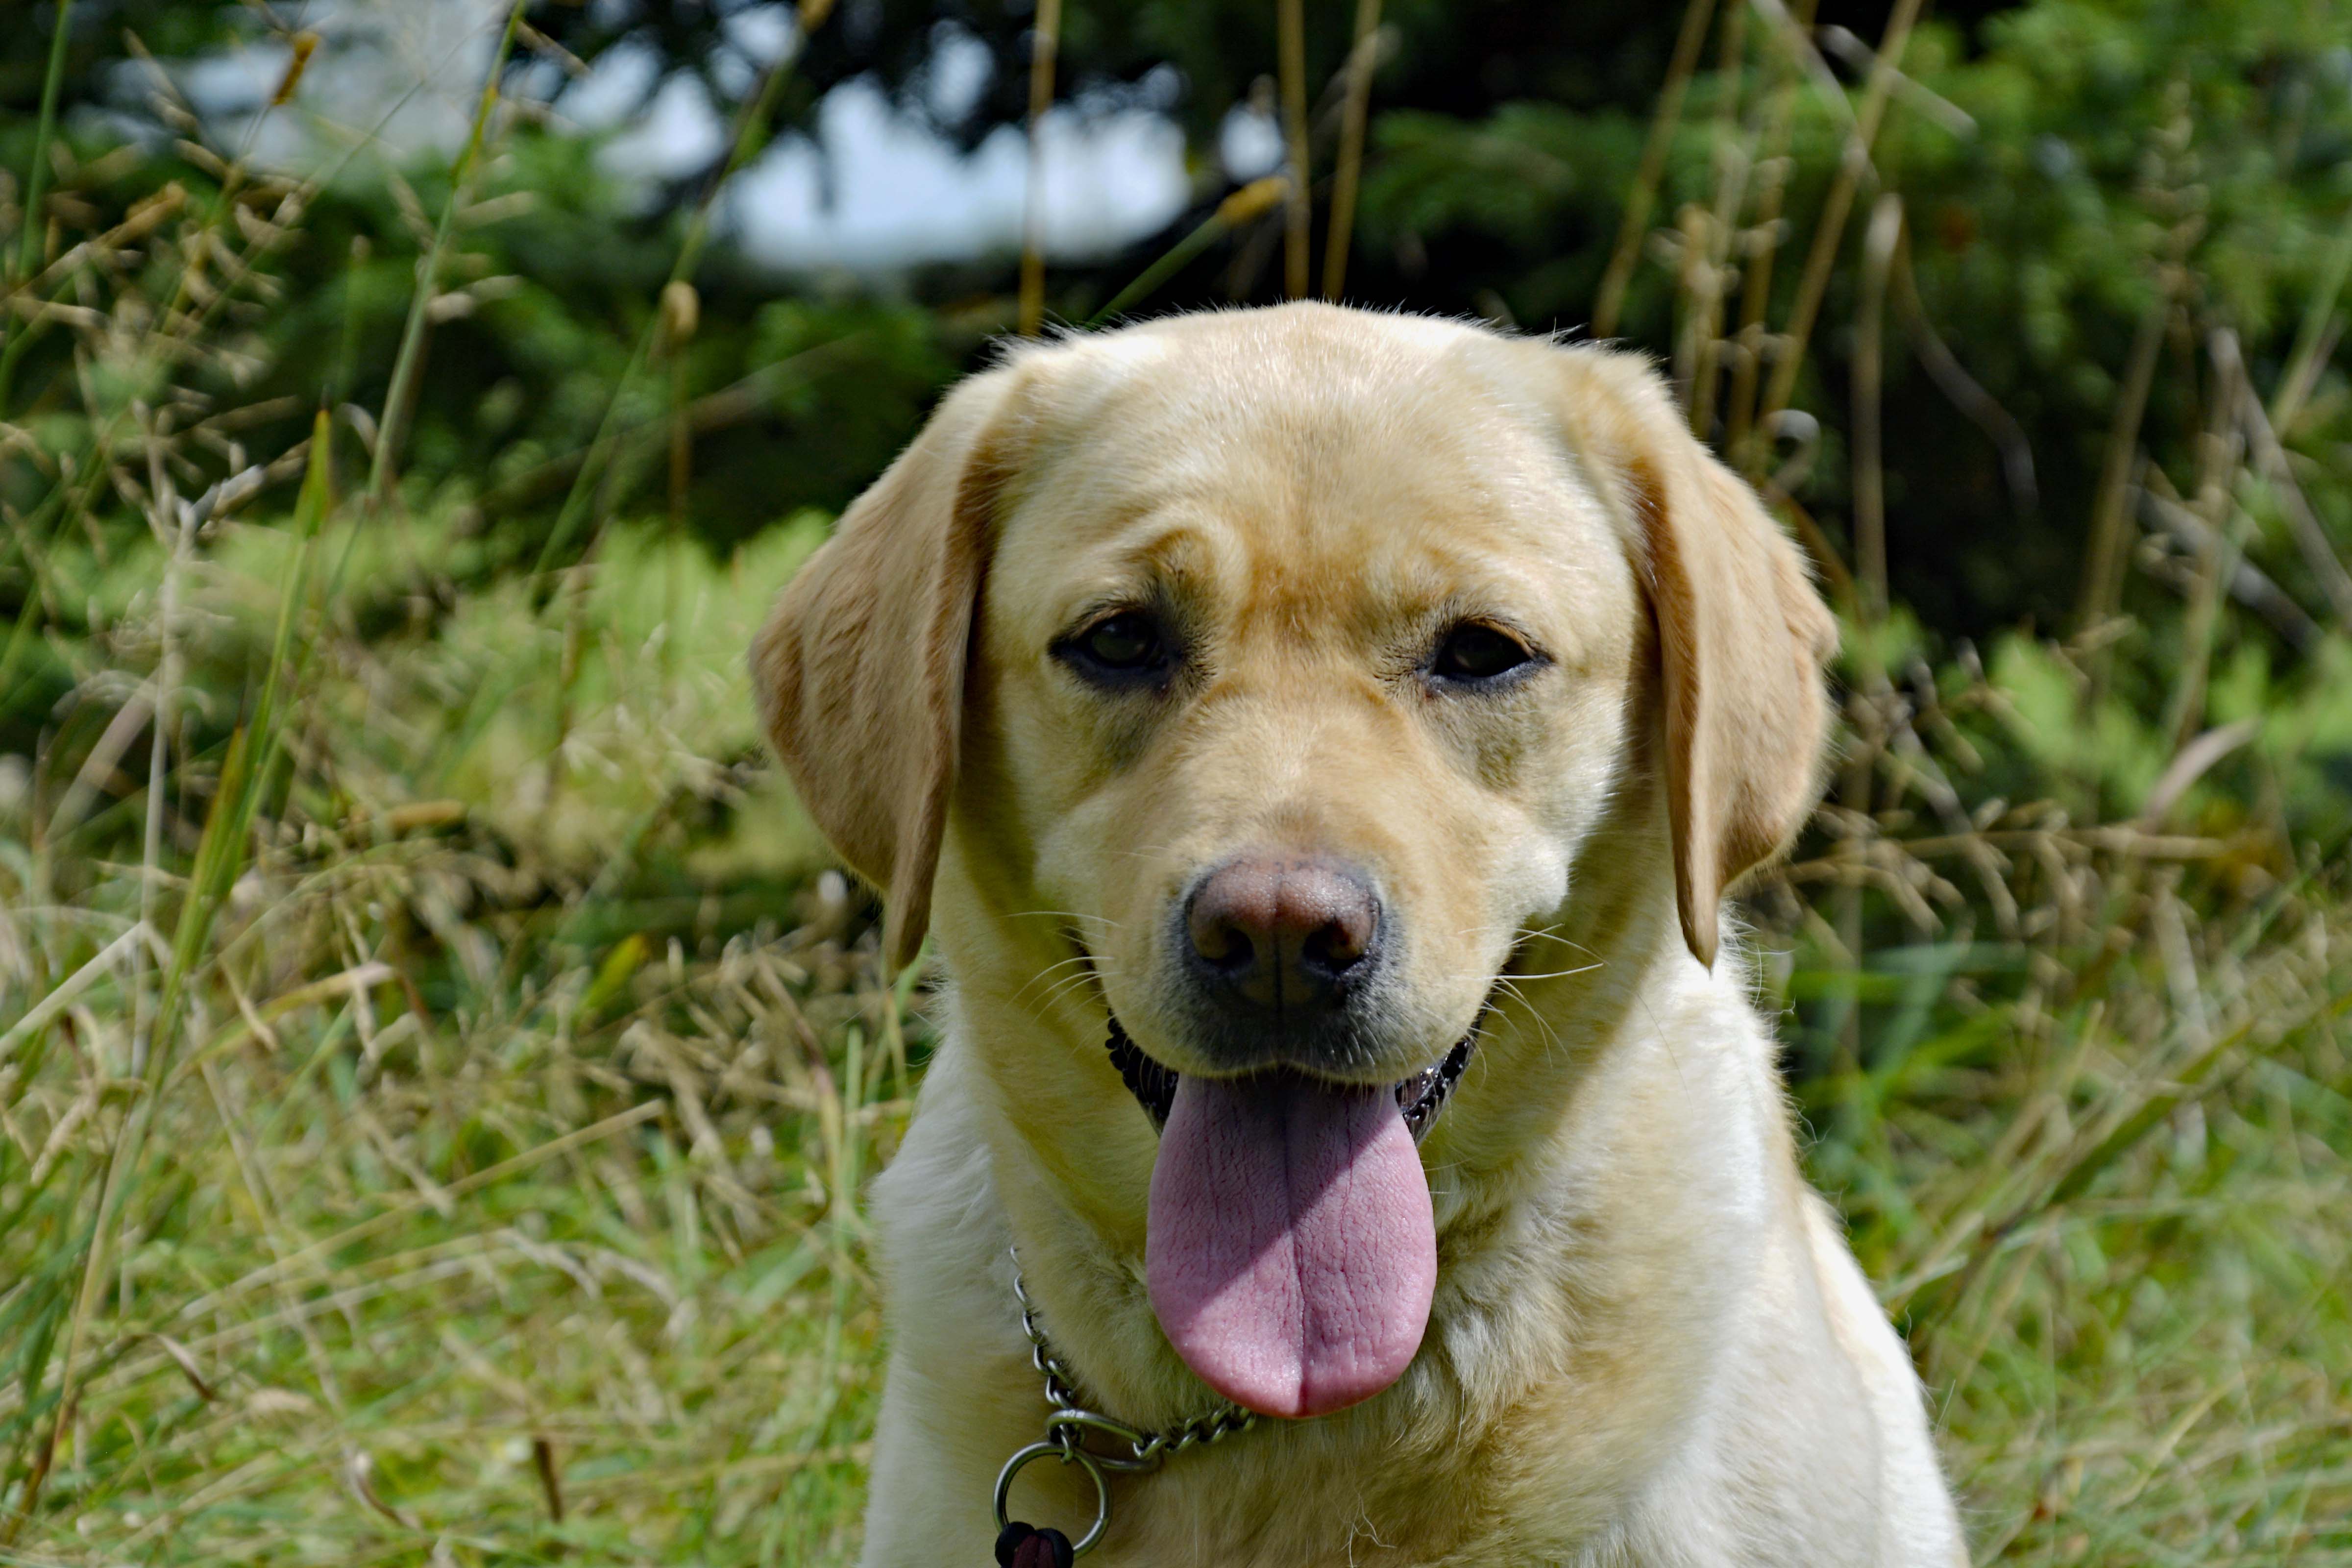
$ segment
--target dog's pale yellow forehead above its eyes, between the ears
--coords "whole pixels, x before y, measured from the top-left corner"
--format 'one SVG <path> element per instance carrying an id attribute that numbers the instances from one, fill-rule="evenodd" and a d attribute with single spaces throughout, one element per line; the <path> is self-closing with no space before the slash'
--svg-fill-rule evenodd
<path id="1" fill-rule="evenodd" d="M 1621 555 L 1545 404 L 1543 350 L 1329 306 L 1218 313 L 1035 360 L 1009 545 L 1454 567 Z"/>

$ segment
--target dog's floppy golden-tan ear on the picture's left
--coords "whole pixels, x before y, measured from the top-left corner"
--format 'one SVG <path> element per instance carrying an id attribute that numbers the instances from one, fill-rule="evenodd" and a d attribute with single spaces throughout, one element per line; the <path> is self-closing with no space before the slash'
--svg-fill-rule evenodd
<path id="1" fill-rule="evenodd" d="M 889 903 L 882 952 L 915 959 L 962 743 L 964 658 L 1021 376 L 964 381 L 793 576 L 753 642 L 760 717 L 835 853 Z"/>

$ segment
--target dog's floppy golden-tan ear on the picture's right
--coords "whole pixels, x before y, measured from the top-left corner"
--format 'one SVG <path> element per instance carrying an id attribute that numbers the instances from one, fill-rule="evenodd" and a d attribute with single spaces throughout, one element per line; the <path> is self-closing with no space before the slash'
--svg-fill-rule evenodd
<path id="1" fill-rule="evenodd" d="M 1797 837 L 1820 792 L 1837 621 L 1797 545 L 1642 360 L 1550 353 L 1571 444 L 1649 569 L 1675 903 L 1682 940 L 1712 966 L 1724 893 Z"/>

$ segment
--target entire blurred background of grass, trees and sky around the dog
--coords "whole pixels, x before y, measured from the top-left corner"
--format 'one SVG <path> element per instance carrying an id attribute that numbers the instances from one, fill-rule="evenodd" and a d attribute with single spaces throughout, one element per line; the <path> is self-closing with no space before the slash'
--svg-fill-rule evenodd
<path id="1" fill-rule="evenodd" d="M 924 976 L 743 649 L 1002 336 L 1308 294 L 1651 353 L 1811 552 L 1757 990 L 1978 1559 L 2352 1561 L 2347 40 L 19 0 L 0 1561 L 854 1561 Z"/>

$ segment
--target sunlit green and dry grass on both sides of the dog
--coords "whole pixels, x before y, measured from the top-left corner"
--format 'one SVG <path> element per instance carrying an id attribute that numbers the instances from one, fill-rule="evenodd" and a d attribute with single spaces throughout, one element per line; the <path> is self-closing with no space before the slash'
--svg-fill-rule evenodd
<path id="1" fill-rule="evenodd" d="M 47 757 L 9 771 L 0 1018 L 96 976 L 0 1044 L 0 1519 L 49 1455 L 0 1561 L 854 1556 L 880 1385 L 856 1192 L 927 1034 L 753 755 L 736 651 L 811 538 L 729 569 L 616 534 L 569 628 L 520 583 L 428 635 L 318 628 L 289 797 L 146 1077 L 141 867 L 49 830 Z M 353 581 L 461 545 L 369 541 Z M 186 614 L 268 646 L 294 548 L 223 536 Z M 1851 755 L 1898 820 L 1896 762 L 1926 778 L 1940 748 L 1870 715 Z M 1759 917 L 1816 1178 L 1987 1561 L 2352 1561 L 2352 910 L 2260 865 L 2199 889 L 2246 844 L 2049 806 L 1938 837 L 1825 839 Z M 1966 929 L 1997 905 L 1945 879 L 1980 856 L 2006 929 Z M 1860 870 L 1943 931 L 1846 954 Z M 56 1422 L 56 1354 L 28 1352 L 85 1305 L 61 1265 L 141 1107 Z"/>

